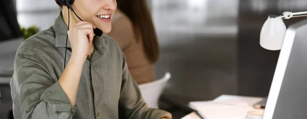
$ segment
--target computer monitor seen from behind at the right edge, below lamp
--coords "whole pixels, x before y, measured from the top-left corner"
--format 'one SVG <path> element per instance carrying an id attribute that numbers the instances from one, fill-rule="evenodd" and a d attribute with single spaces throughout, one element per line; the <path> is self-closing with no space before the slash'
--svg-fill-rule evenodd
<path id="1" fill-rule="evenodd" d="M 284 36 L 262 118 L 307 118 L 307 20 Z"/>

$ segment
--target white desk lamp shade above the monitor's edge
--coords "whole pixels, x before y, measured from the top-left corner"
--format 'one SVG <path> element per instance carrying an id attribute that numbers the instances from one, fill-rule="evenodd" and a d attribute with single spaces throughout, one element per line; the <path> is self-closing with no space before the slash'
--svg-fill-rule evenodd
<path id="1" fill-rule="evenodd" d="M 261 28 L 260 46 L 268 50 L 280 50 L 286 30 L 280 15 L 270 15 Z"/>

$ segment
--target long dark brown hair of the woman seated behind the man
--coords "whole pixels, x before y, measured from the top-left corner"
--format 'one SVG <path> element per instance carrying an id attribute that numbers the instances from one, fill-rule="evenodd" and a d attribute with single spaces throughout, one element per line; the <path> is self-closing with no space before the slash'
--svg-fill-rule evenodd
<path id="1" fill-rule="evenodd" d="M 142 37 L 148 59 L 154 63 L 159 58 L 159 45 L 146 0 L 116 0 L 120 9 L 132 22 L 135 36 Z"/>

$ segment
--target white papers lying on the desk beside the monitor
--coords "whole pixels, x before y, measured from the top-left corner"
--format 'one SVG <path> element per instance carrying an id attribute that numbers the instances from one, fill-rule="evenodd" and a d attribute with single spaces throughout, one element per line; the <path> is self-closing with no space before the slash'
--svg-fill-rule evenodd
<path id="1" fill-rule="evenodd" d="M 198 110 L 206 119 L 245 118 L 248 111 L 256 110 L 252 107 L 260 97 L 244 97 L 222 95 L 213 101 L 190 102 L 189 106 Z"/>

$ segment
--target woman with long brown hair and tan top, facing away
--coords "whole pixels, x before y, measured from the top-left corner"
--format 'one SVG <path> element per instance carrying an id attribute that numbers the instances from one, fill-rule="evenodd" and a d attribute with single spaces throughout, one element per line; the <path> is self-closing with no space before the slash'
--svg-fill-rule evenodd
<path id="1" fill-rule="evenodd" d="M 145 0 L 117 0 L 111 36 L 126 56 L 131 76 L 138 84 L 155 80 L 153 64 L 159 57 L 155 27 Z"/>

